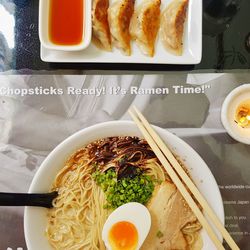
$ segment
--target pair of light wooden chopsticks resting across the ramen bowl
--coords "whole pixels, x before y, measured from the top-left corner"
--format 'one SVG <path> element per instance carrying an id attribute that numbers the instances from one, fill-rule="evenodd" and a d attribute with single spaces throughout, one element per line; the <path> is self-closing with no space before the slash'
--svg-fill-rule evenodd
<path id="1" fill-rule="evenodd" d="M 141 133 L 143 134 L 144 138 L 147 140 L 149 146 L 152 148 L 155 155 L 166 169 L 173 183 L 176 185 L 177 189 L 179 190 L 183 198 L 186 200 L 189 207 L 192 209 L 193 213 L 201 223 L 202 227 L 207 231 L 209 237 L 214 242 L 217 249 L 225 250 L 225 248 L 222 245 L 222 242 L 218 239 L 214 230 L 204 217 L 202 211 L 197 206 L 196 202 L 190 195 L 189 191 L 186 189 L 185 185 L 191 191 L 195 199 L 199 202 L 204 212 L 209 216 L 210 220 L 213 222 L 217 230 L 221 233 L 224 240 L 228 243 L 231 249 L 240 250 L 240 248 L 234 242 L 231 235 L 228 233 L 228 231 L 225 229 L 223 224 L 218 219 L 217 215 L 214 213 L 213 209 L 210 207 L 208 202 L 202 196 L 198 188 L 195 186 L 191 178 L 186 174 L 186 172 L 178 163 L 172 152 L 162 141 L 159 135 L 155 132 L 155 130 L 152 128 L 152 126 L 149 124 L 146 118 L 140 113 L 140 111 L 136 107 L 133 107 L 128 112 L 132 117 L 132 119 L 134 120 L 134 122 L 136 123 L 136 125 L 138 126 Z M 185 185 L 183 183 L 185 183 Z"/>

